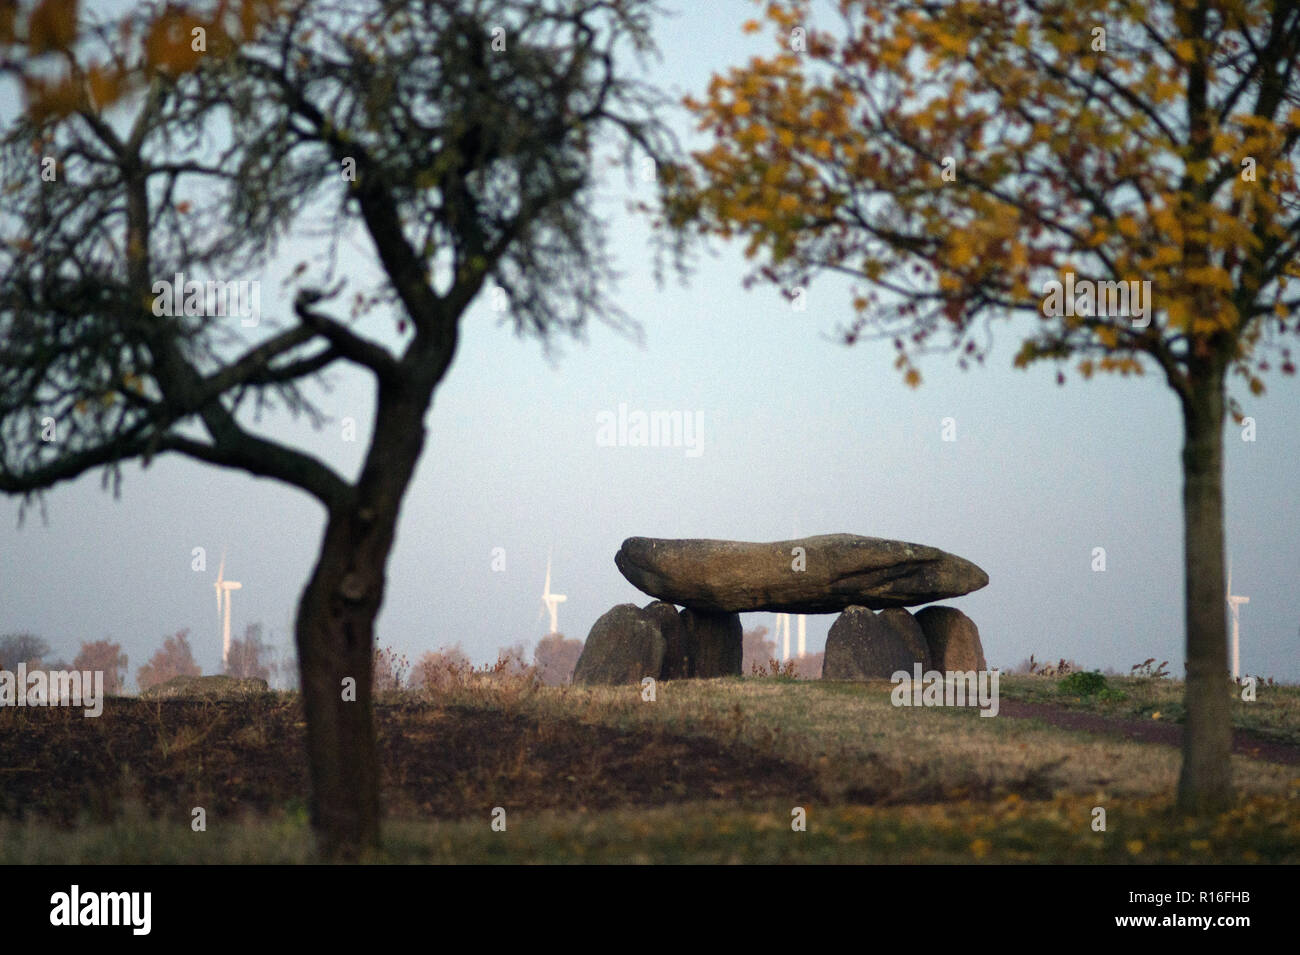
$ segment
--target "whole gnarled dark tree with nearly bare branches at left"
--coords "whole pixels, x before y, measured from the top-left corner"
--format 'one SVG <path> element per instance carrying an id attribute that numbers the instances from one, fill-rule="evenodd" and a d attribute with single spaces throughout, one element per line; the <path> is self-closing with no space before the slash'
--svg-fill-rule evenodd
<path id="1" fill-rule="evenodd" d="M 650 49 L 653 13 L 654 0 L 290 0 L 203 56 L 160 53 L 155 22 L 127 19 L 84 44 L 134 65 L 138 92 L 104 105 L 81 48 L 65 49 L 81 82 L 0 142 L 0 491 L 98 468 L 116 482 L 125 460 L 179 453 L 321 503 L 295 630 L 329 855 L 378 845 L 374 620 L 462 317 L 491 287 L 521 334 L 628 327 L 604 295 L 593 195 L 612 149 L 632 162 L 671 146 L 658 94 L 624 69 Z M 303 264 L 291 314 L 254 318 L 260 338 L 203 287 L 170 287 L 250 274 L 309 204 L 330 252 Z M 358 230 L 382 282 L 351 290 L 346 314 L 335 252 Z M 363 333 L 376 309 L 389 321 Z M 322 425 L 303 382 L 344 366 L 374 396 L 352 479 L 250 426 L 277 407 Z"/>

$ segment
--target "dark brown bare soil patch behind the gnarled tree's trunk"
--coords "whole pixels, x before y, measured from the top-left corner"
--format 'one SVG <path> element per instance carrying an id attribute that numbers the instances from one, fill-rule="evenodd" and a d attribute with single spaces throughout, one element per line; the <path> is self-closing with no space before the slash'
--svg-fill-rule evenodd
<path id="1" fill-rule="evenodd" d="M 805 767 L 742 743 L 656 728 L 462 706 L 378 706 L 389 812 L 438 819 L 508 811 L 606 809 L 723 799 L 806 799 Z M 276 698 L 109 700 L 79 709 L 0 709 L 0 816 L 70 825 L 114 819 L 134 800 L 188 820 L 302 811 L 308 790 L 302 711 Z M 793 804 L 793 802 L 792 802 Z"/>

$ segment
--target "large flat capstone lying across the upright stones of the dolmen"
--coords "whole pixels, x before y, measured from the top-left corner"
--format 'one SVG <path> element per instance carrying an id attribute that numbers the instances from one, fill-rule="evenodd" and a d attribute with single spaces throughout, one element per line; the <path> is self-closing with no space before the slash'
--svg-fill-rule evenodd
<path id="1" fill-rule="evenodd" d="M 854 534 L 774 543 L 633 537 L 614 563 L 646 594 L 710 613 L 911 607 L 988 583 L 975 564 L 937 547 Z"/>

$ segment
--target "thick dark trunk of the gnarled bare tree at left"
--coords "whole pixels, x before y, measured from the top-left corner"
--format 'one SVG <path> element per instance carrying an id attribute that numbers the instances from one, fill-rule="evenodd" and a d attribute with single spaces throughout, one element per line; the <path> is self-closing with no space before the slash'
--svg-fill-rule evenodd
<path id="1" fill-rule="evenodd" d="M 380 390 L 356 492 L 329 513 L 316 569 L 298 605 L 312 826 L 329 859 L 352 860 L 380 846 L 374 618 L 402 498 L 424 446 L 432 390 L 432 382 L 413 396 Z"/>

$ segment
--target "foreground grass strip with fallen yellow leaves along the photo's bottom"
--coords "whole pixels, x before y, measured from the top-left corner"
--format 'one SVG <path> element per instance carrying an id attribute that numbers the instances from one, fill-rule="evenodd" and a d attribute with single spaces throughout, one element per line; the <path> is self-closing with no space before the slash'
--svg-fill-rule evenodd
<path id="1" fill-rule="evenodd" d="M 1161 799 L 1110 809 L 1092 829 L 1092 800 L 956 802 L 868 807 L 809 804 L 806 832 L 790 808 L 719 803 L 598 813 L 511 813 L 506 832 L 486 817 L 394 820 L 376 863 L 1290 863 L 1300 861 L 1295 798 L 1260 796 L 1216 819 L 1188 822 Z M 313 861 L 302 819 L 248 820 L 192 833 L 127 815 L 78 830 L 0 821 L 0 864 Z"/>

